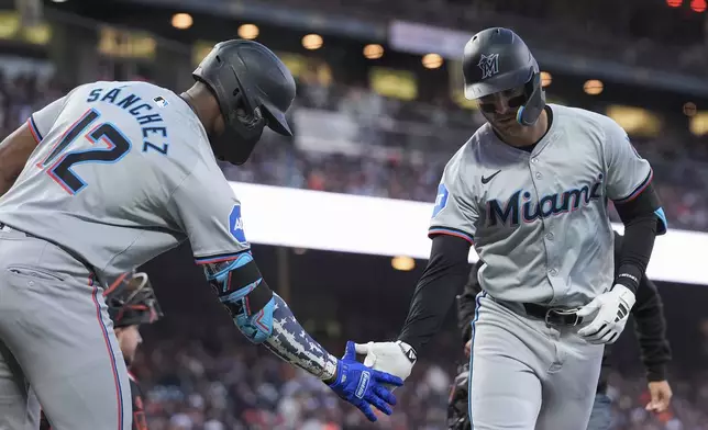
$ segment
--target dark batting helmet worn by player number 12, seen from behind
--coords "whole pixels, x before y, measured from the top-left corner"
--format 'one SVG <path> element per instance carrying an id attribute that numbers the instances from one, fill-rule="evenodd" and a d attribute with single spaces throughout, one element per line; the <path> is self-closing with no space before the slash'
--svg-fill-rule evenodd
<path id="1" fill-rule="evenodd" d="M 295 99 L 295 79 L 267 47 L 243 39 L 218 43 L 192 76 L 209 87 L 223 115 L 224 133 L 209 136 L 219 159 L 246 162 L 266 125 L 292 136 L 285 113 Z"/>

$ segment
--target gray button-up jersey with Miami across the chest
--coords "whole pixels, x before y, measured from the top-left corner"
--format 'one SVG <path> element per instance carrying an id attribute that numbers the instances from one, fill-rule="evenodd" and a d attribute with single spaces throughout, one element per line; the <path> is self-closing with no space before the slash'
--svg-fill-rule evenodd
<path id="1" fill-rule="evenodd" d="M 611 286 L 608 199 L 626 202 L 652 169 L 611 118 L 549 105 L 553 122 L 531 152 L 483 125 L 443 173 L 430 235 L 474 244 L 482 287 L 508 302 L 579 306 Z"/>

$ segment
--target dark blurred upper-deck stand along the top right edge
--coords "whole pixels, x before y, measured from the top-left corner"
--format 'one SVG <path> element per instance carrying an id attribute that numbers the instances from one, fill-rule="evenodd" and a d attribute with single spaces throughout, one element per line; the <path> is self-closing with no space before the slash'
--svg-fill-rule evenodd
<path id="1" fill-rule="evenodd" d="M 583 55 L 700 77 L 706 76 L 708 66 L 705 19 L 690 12 L 687 4 L 677 10 L 668 8 L 665 1 L 267 1 L 369 22 L 403 20 L 467 33 L 472 29 L 502 25 L 515 29 L 530 46 L 543 46 L 546 52 L 568 58 Z"/>

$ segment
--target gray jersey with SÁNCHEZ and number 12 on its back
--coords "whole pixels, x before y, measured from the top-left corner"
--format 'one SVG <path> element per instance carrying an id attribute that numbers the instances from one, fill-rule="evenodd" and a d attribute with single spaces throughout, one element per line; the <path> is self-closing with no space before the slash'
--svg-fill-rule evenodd
<path id="1" fill-rule="evenodd" d="M 174 92 L 84 84 L 29 124 L 38 146 L 0 200 L 0 223 L 60 246 L 101 276 L 186 239 L 200 263 L 248 248 L 204 128 Z"/>

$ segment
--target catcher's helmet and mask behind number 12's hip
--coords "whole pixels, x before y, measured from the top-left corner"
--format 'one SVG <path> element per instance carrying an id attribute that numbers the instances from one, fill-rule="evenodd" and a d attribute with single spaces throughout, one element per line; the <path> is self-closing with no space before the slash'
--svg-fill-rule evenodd
<path id="1" fill-rule="evenodd" d="M 147 274 L 123 273 L 104 292 L 113 328 L 155 322 L 163 316 Z"/>

